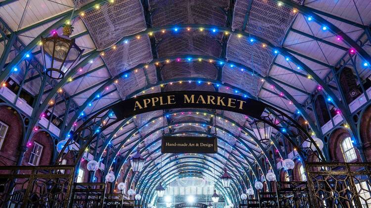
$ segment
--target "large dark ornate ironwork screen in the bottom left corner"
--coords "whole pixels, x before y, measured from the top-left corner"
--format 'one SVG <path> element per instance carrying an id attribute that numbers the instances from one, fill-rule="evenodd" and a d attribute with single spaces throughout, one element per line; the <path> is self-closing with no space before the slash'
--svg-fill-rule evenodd
<path id="1" fill-rule="evenodd" d="M 0 166 L 0 207 L 67 208 L 74 166 Z"/>

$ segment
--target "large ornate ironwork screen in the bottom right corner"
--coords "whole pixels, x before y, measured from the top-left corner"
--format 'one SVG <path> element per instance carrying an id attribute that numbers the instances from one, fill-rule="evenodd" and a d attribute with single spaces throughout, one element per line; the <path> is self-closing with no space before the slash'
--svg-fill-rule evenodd
<path id="1" fill-rule="evenodd" d="M 308 188 L 316 208 L 371 208 L 371 163 L 308 163 Z"/>

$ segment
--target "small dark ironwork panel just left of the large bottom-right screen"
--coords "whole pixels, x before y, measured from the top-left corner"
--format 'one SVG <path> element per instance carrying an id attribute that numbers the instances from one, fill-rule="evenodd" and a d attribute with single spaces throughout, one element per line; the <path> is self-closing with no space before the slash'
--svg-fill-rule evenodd
<path id="1" fill-rule="evenodd" d="M 305 181 L 277 181 L 276 191 L 280 208 L 312 207 Z"/>

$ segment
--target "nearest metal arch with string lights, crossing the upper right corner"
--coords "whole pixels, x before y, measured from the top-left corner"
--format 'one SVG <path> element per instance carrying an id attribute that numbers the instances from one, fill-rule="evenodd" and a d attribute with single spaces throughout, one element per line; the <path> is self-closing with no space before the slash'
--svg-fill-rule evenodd
<path id="1" fill-rule="evenodd" d="M 278 2 L 278 0 L 275 0 L 275 1 Z M 304 6 L 304 5 L 299 5 L 290 0 L 279 0 L 279 1 L 281 1 L 283 4 L 288 5 L 292 8 L 298 9 L 305 15 L 312 16 L 314 21 L 316 21 L 317 23 L 321 25 L 325 25 L 326 27 L 328 27 L 329 30 L 332 32 L 332 34 L 340 35 L 342 39 L 345 41 L 345 43 L 353 47 L 357 51 L 357 53 L 361 55 L 361 57 L 367 60 L 367 62 L 369 63 L 371 62 L 371 56 L 361 46 L 359 46 L 352 38 L 346 35 L 338 27 L 336 27 L 335 25 L 333 25 L 332 23 L 330 23 L 329 21 L 325 20 L 323 17 L 321 17 L 320 15 L 312 11 L 311 8 Z"/>

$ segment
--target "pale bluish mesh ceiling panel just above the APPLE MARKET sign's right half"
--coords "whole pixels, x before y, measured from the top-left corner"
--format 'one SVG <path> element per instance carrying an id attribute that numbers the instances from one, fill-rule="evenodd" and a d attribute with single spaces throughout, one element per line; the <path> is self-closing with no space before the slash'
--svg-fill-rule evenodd
<path id="1" fill-rule="evenodd" d="M 231 68 L 228 65 L 223 67 L 222 82 L 246 90 L 253 96 L 258 95 L 259 89 L 263 84 L 258 76 L 251 75 L 246 70 Z"/>

